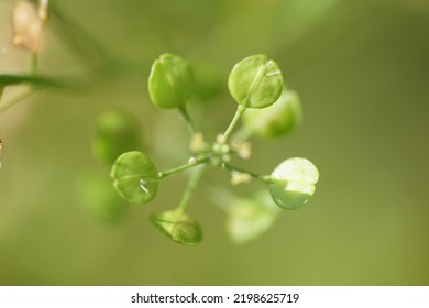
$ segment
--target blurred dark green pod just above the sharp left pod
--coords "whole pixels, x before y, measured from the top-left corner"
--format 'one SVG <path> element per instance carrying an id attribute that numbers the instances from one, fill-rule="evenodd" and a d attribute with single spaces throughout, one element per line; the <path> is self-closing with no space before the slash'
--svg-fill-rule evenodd
<path id="1" fill-rule="evenodd" d="M 124 111 L 108 111 L 97 119 L 92 152 L 99 161 L 111 165 L 122 153 L 140 150 L 141 139 L 134 117 Z"/>

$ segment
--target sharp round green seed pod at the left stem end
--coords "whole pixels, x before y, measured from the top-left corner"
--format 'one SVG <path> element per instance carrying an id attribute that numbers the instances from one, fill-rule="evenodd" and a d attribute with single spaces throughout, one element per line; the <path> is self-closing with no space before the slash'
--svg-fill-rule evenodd
<path id="1" fill-rule="evenodd" d="M 113 187 L 125 200 L 146 204 L 155 198 L 158 190 L 158 172 L 152 160 L 144 153 L 132 151 L 118 157 L 111 177 Z"/>

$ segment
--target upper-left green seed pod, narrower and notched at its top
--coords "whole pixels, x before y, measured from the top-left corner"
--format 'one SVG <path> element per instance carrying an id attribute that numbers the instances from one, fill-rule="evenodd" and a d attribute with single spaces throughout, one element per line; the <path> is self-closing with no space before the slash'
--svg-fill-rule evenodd
<path id="1" fill-rule="evenodd" d="M 162 54 L 152 65 L 148 94 L 161 108 L 185 108 L 194 94 L 194 82 L 190 65 L 184 58 Z"/>

